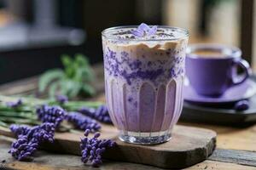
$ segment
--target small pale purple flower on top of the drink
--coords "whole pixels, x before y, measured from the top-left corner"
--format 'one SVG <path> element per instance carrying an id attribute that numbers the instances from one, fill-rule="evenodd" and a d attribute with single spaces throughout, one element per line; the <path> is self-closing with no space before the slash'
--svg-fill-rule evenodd
<path id="1" fill-rule="evenodd" d="M 157 31 L 157 26 L 152 26 L 150 28 L 145 23 L 142 23 L 140 26 L 137 27 L 136 30 L 131 31 L 131 34 L 133 34 L 136 37 L 147 37 L 147 36 L 155 35 L 156 31 Z"/>

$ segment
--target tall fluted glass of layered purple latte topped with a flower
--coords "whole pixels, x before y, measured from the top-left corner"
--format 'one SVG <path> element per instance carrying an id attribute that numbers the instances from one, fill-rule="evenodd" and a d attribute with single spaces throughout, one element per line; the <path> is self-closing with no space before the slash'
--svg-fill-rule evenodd
<path id="1" fill-rule="evenodd" d="M 119 139 L 157 144 L 171 138 L 183 107 L 188 31 L 120 26 L 102 31 L 108 111 Z"/>

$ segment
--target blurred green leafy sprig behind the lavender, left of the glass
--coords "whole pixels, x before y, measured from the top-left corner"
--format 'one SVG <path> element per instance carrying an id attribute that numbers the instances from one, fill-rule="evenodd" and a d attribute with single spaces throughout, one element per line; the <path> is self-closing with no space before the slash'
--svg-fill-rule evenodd
<path id="1" fill-rule="evenodd" d="M 61 62 L 64 66 L 63 71 L 47 71 L 40 78 L 40 92 L 49 86 L 49 96 L 51 97 L 56 94 L 58 89 L 61 94 L 71 98 L 79 93 L 95 94 L 95 89 L 90 86 L 95 76 L 90 68 L 89 60 L 83 54 L 75 54 L 74 59 L 68 55 L 62 55 Z"/>

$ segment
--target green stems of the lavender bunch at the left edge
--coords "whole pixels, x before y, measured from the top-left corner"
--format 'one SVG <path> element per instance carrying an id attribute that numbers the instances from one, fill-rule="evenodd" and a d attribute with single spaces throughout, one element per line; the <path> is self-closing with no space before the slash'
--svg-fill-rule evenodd
<path id="1" fill-rule="evenodd" d="M 11 108 L 5 105 L 6 102 L 16 101 L 18 99 L 22 99 L 23 105 L 17 108 Z M 54 99 L 36 99 L 32 97 L 0 95 L 0 100 L 2 101 L 2 104 L 0 103 L 0 126 L 2 127 L 9 127 L 11 123 L 38 125 L 40 122 L 38 122 L 36 109 L 39 105 L 60 105 Z M 84 106 L 97 108 L 102 104 L 102 102 L 93 101 L 69 101 L 61 105 L 61 107 L 67 111 L 78 111 Z M 72 131 L 72 128 L 70 127 L 69 130 Z"/>

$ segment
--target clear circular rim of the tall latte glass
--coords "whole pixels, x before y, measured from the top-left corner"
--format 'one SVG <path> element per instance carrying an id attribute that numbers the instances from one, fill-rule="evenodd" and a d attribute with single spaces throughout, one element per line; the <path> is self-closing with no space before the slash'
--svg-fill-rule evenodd
<path id="1" fill-rule="evenodd" d="M 150 27 L 152 25 L 149 25 Z M 112 36 L 112 35 L 109 35 L 108 33 L 110 31 L 118 31 L 120 29 L 125 29 L 125 28 L 137 28 L 137 26 L 113 26 L 113 27 L 109 27 L 105 30 L 102 31 L 102 37 L 105 37 L 105 38 L 108 38 L 108 39 L 111 39 L 111 40 L 120 40 L 118 37 L 116 36 Z M 124 39 L 121 39 L 120 41 L 135 41 L 135 42 L 152 42 L 152 41 L 174 41 L 174 40 L 180 40 L 180 39 L 183 39 L 185 37 L 189 37 L 189 31 L 186 30 L 186 29 L 183 29 L 183 28 L 180 28 L 180 27 L 176 27 L 176 26 L 158 26 L 158 28 L 168 28 L 168 29 L 174 29 L 176 31 L 180 31 L 180 32 L 183 32 L 183 35 L 181 37 L 168 37 L 168 38 L 162 38 L 162 39 L 156 39 L 156 38 L 149 38 L 149 39 L 128 39 L 128 38 L 124 38 Z"/>

